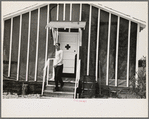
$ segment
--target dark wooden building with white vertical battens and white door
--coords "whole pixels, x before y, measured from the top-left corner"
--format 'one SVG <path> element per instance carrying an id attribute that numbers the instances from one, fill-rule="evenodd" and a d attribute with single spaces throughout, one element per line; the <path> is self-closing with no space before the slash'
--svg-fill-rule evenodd
<path id="1" fill-rule="evenodd" d="M 129 79 L 138 69 L 138 38 L 145 23 L 111 8 L 47 3 L 8 14 L 3 20 L 4 81 L 38 83 L 42 94 L 48 90 L 52 95 L 56 42 L 64 50 L 63 73 L 69 80 L 65 85 L 74 83 L 67 94 L 76 95 L 80 80 L 129 87 Z"/>

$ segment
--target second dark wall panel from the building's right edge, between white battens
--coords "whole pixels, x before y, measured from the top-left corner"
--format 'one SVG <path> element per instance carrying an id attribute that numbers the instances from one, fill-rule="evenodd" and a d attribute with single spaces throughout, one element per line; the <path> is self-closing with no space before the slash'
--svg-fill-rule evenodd
<path id="1" fill-rule="evenodd" d="M 118 79 L 126 80 L 127 76 L 127 48 L 128 48 L 128 21 L 120 18 Z"/>

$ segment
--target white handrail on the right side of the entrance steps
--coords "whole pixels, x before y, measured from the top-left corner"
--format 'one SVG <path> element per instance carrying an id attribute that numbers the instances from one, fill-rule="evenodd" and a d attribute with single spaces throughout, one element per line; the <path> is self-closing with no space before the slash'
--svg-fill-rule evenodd
<path id="1" fill-rule="evenodd" d="M 81 66 L 81 60 L 79 59 L 78 64 L 77 64 L 77 72 L 76 72 L 76 80 L 75 80 L 75 91 L 74 91 L 74 99 L 76 97 L 76 92 L 78 88 L 78 82 L 80 80 L 80 67 Z"/>

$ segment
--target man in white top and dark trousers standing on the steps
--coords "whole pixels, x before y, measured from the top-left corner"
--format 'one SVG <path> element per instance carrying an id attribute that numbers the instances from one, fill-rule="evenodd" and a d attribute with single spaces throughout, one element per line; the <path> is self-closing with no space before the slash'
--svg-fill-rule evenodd
<path id="1" fill-rule="evenodd" d="M 60 49 L 60 43 L 55 44 L 56 54 L 54 61 L 54 69 L 55 69 L 55 88 L 54 91 L 59 91 L 58 82 L 60 82 L 60 87 L 62 88 L 64 82 L 62 80 L 62 71 L 63 71 L 63 50 Z"/>

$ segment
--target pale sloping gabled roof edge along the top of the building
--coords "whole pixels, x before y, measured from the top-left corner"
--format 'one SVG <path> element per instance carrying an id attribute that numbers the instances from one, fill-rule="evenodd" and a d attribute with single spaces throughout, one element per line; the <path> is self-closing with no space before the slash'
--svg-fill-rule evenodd
<path id="1" fill-rule="evenodd" d="M 25 14 L 27 12 L 36 10 L 38 8 L 41 8 L 41 7 L 44 7 L 44 6 L 48 5 L 48 4 L 50 4 L 50 3 L 35 4 L 35 5 L 30 6 L 30 7 L 24 8 L 22 10 L 18 10 L 16 12 L 7 14 L 7 15 L 3 16 L 3 19 L 7 20 L 7 19 L 10 19 L 12 17 L 16 17 L 16 16 L 19 16 L 21 14 Z M 52 3 L 52 4 L 57 4 L 57 3 Z M 69 4 L 69 3 L 67 3 L 67 4 Z M 80 3 L 74 3 L 74 4 L 80 4 Z M 86 4 L 86 3 L 82 3 L 82 4 Z M 139 20 L 137 18 L 131 17 L 130 15 L 126 15 L 124 13 L 121 13 L 119 11 L 116 11 L 116 10 L 112 9 L 112 8 L 103 6 L 101 4 L 95 4 L 95 3 L 87 3 L 87 4 L 92 5 L 92 6 L 96 7 L 96 8 L 100 8 L 100 9 L 106 11 L 106 12 L 109 12 L 111 14 L 114 14 L 114 15 L 117 15 L 119 17 L 125 18 L 127 20 L 131 20 L 131 21 L 133 21 L 135 23 L 139 23 L 141 29 L 144 29 L 146 27 L 146 22 L 145 21 L 142 21 L 142 20 Z"/>

